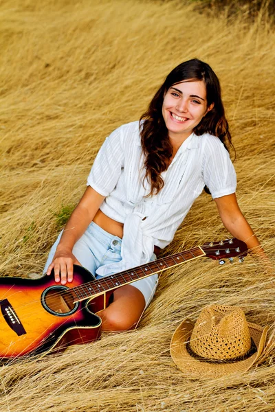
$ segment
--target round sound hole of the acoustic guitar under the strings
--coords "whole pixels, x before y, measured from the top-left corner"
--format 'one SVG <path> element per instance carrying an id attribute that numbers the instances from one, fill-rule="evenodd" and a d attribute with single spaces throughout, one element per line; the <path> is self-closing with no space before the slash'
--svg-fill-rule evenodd
<path id="1" fill-rule="evenodd" d="M 41 301 L 47 312 L 58 316 L 67 316 L 78 308 L 78 303 L 74 304 L 74 297 L 66 286 L 51 286 L 45 289 Z"/>

